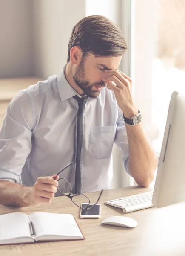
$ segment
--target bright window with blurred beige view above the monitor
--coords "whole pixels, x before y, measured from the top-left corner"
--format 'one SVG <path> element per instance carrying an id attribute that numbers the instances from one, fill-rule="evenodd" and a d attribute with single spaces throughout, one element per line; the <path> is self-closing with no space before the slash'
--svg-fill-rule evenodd
<path id="1" fill-rule="evenodd" d="M 171 93 L 185 88 L 185 1 L 158 0 L 156 56 L 152 63 L 152 117 L 160 153 Z"/>

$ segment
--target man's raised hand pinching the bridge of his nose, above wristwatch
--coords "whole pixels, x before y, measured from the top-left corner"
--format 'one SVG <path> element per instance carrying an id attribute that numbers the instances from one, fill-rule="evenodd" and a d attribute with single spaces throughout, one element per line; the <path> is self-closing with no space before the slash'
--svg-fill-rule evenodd
<path id="1" fill-rule="evenodd" d="M 124 116 L 131 118 L 134 114 L 138 113 L 138 108 L 132 98 L 132 80 L 124 73 L 118 70 L 106 71 L 106 79 L 102 79 L 107 83 L 107 88 L 114 91 L 117 104 L 123 111 Z M 114 85 L 112 81 L 116 84 Z"/>

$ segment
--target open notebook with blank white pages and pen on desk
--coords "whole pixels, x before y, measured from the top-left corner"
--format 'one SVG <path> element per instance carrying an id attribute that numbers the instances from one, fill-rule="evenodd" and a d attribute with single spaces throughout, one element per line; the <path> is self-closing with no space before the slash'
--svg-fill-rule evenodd
<path id="1" fill-rule="evenodd" d="M 0 244 L 85 239 L 71 214 L 14 212 L 0 215 Z"/>

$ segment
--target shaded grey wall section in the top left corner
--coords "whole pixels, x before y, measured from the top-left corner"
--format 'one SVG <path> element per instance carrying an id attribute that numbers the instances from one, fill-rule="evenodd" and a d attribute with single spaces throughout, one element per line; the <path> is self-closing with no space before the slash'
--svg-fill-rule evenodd
<path id="1" fill-rule="evenodd" d="M 0 78 L 32 75 L 32 2 L 0 0 Z"/>

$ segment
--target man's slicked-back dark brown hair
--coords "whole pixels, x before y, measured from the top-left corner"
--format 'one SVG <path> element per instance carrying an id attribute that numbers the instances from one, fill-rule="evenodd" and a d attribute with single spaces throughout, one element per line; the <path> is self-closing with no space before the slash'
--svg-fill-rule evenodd
<path id="1" fill-rule="evenodd" d="M 97 57 L 121 56 L 127 49 L 121 30 L 110 19 L 100 15 L 85 17 L 74 26 L 68 44 L 67 62 L 74 46 L 82 49 L 83 58 L 88 53 Z"/>

